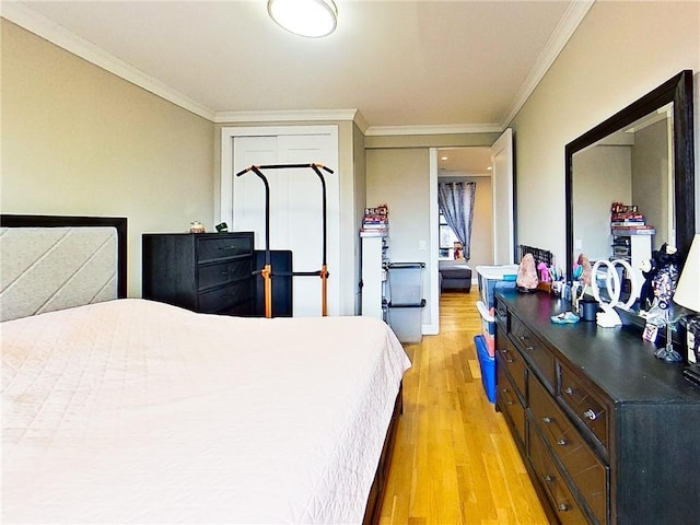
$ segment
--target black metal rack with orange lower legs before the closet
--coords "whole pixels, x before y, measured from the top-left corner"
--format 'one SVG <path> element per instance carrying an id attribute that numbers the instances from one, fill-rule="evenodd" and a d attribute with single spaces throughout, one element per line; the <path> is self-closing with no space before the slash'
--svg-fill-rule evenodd
<path id="1" fill-rule="evenodd" d="M 334 171 L 323 164 L 318 163 L 310 163 L 310 164 L 267 164 L 267 165 L 253 165 L 250 167 L 246 167 L 245 170 L 236 173 L 236 177 L 245 175 L 248 172 L 255 173 L 262 184 L 265 185 L 265 266 L 256 270 L 256 273 L 259 273 L 265 283 L 265 317 L 272 317 L 272 278 L 275 277 L 275 272 L 272 271 L 272 262 L 270 256 L 270 185 L 267 180 L 267 177 L 262 173 L 262 170 L 298 170 L 298 168 L 311 168 L 318 176 L 320 180 L 322 187 L 322 198 L 323 198 L 323 261 L 319 270 L 314 271 L 291 271 L 291 272 L 278 272 L 278 276 L 301 276 L 301 277 L 320 277 L 320 304 L 322 304 L 322 315 L 328 315 L 328 266 L 326 260 L 327 253 L 327 218 L 326 218 L 326 179 L 324 178 L 323 173 L 324 170 L 327 173 L 332 174 Z"/>

